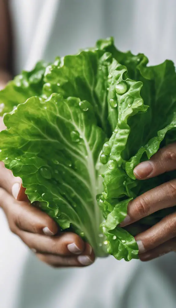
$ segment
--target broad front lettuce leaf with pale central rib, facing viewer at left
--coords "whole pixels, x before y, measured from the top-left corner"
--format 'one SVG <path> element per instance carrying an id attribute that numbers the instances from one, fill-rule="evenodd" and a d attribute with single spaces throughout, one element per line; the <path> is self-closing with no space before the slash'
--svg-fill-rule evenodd
<path id="1" fill-rule="evenodd" d="M 97 163 L 105 134 L 91 104 L 60 94 L 32 97 L 6 114 L 4 123 L 8 130 L 1 132 L 0 159 L 22 178 L 30 201 L 40 201 L 62 229 L 71 225 L 101 255 Z"/>

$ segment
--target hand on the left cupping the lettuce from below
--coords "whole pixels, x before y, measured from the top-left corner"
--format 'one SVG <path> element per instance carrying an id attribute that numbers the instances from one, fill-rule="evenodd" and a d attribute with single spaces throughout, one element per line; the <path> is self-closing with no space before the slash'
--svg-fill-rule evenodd
<path id="1" fill-rule="evenodd" d="M 0 118 L 0 131 L 5 129 Z M 54 267 L 86 266 L 94 262 L 94 252 L 75 233 L 62 232 L 56 222 L 32 206 L 25 195 L 22 181 L 0 162 L 0 207 L 10 230 L 43 262 Z"/>

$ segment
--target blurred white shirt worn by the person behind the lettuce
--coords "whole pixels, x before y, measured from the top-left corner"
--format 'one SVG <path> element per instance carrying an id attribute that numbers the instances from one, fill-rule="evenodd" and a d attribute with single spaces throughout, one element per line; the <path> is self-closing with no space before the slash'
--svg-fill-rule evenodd
<path id="1" fill-rule="evenodd" d="M 176 62 L 174 0 L 11 0 L 16 73 L 40 59 L 73 54 L 114 36 L 118 49 L 150 64 Z M 1 308 L 175 307 L 175 254 L 142 263 L 98 259 L 81 269 L 51 269 L 8 230 L 0 212 Z"/>

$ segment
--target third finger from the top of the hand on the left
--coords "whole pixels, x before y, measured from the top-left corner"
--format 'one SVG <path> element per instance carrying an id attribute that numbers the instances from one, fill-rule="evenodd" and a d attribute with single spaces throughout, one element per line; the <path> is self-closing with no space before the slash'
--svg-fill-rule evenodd
<path id="1" fill-rule="evenodd" d="M 38 253 L 70 256 L 82 253 L 85 249 L 82 238 L 70 232 L 63 232 L 55 237 L 25 231 L 19 232 L 18 235 L 27 246 L 35 249 Z"/>

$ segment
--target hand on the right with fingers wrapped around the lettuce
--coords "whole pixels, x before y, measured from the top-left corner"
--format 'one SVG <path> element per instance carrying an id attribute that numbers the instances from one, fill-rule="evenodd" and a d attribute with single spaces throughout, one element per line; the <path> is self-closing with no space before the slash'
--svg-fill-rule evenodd
<path id="1" fill-rule="evenodd" d="M 176 143 L 159 150 L 150 160 L 134 168 L 138 180 L 146 180 L 176 169 Z M 124 227 L 160 209 L 176 205 L 176 179 L 143 193 L 130 201 L 128 215 L 120 224 Z M 135 237 L 139 247 L 139 258 L 148 261 L 170 251 L 176 251 L 176 213 L 164 217 L 160 222 Z"/>

